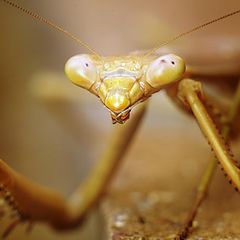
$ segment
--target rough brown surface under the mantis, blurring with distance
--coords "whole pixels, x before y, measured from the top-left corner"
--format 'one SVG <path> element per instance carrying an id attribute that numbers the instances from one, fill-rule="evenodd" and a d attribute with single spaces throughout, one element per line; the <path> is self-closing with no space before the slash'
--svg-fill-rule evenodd
<path id="1" fill-rule="evenodd" d="M 175 127 L 152 127 L 140 131 L 102 204 L 106 239 L 173 239 L 193 202 L 211 156 L 207 143 L 185 116 Z M 218 169 L 188 239 L 240 239 L 239 200 Z"/>

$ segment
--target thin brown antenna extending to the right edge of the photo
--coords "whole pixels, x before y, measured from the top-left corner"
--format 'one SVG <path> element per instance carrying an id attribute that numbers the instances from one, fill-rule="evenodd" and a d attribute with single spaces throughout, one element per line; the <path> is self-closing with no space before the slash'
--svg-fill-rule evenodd
<path id="1" fill-rule="evenodd" d="M 213 20 L 211 20 L 211 21 L 205 22 L 205 23 L 203 23 L 203 24 L 201 24 L 201 25 L 198 25 L 198 26 L 196 26 L 196 27 L 194 27 L 194 28 L 192 28 L 192 29 L 190 29 L 190 30 L 188 30 L 188 31 L 186 31 L 186 32 L 183 32 L 183 33 L 181 33 L 181 34 L 179 34 L 179 35 L 177 35 L 177 36 L 175 36 L 175 37 L 173 37 L 173 38 L 171 38 L 171 39 L 169 39 L 169 40 L 161 43 L 160 45 L 156 46 L 155 48 L 153 48 L 152 50 L 150 50 L 149 52 L 147 52 L 143 57 L 145 58 L 145 57 L 148 57 L 148 56 L 152 55 L 152 54 L 153 54 L 154 52 L 156 52 L 159 48 L 161 48 L 161 47 L 163 47 L 163 46 L 165 46 L 165 45 L 167 45 L 167 44 L 169 44 L 169 43 L 175 42 L 175 41 L 178 40 L 179 38 L 182 38 L 182 37 L 184 37 L 184 36 L 186 36 L 186 35 L 188 35 L 188 34 L 190 34 L 190 33 L 193 33 L 193 32 L 195 32 L 195 31 L 198 31 L 198 30 L 200 30 L 200 29 L 202 29 L 202 28 L 204 28 L 204 27 L 206 27 L 206 26 L 208 26 L 208 25 L 211 25 L 211 24 L 213 24 L 213 23 L 216 23 L 216 22 L 218 22 L 218 21 L 221 21 L 221 20 L 223 20 L 223 19 L 225 19 L 225 18 L 231 17 L 231 16 L 236 15 L 236 14 L 238 14 L 238 13 L 240 13 L 240 9 L 239 9 L 239 10 L 236 10 L 236 11 L 234 11 L 234 12 L 228 13 L 228 14 L 226 14 L 226 15 L 223 15 L 223 16 L 221 16 L 221 17 L 215 18 L 215 19 L 213 19 Z"/>

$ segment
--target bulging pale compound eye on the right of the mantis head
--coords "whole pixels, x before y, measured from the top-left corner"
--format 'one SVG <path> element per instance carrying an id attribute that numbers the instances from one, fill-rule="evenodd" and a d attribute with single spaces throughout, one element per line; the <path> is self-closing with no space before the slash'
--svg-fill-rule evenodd
<path id="1" fill-rule="evenodd" d="M 154 60 L 146 71 L 146 81 L 156 89 L 179 80 L 185 72 L 182 58 L 168 54 Z"/>

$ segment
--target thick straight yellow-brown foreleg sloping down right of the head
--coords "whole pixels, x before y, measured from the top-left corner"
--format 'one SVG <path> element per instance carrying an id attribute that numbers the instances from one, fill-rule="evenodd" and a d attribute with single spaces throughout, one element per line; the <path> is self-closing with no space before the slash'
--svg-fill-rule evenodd
<path id="1" fill-rule="evenodd" d="M 223 137 L 220 135 L 206 108 L 202 103 L 203 92 L 201 83 L 184 79 L 179 84 L 179 98 L 191 108 L 200 129 L 209 141 L 212 150 L 221 163 L 223 170 L 236 189 L 240 190 L 240 170 L 232 158 L 232 153 Z"/>

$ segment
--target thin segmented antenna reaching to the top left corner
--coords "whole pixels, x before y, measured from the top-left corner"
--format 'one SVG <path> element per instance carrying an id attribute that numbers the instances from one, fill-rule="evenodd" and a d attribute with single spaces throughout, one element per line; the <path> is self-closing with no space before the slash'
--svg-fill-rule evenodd
<path id="1" fill-rule="evenodd" d="M 75 42 L 77 42 L 79 45 L 81 45 L 82 47 L 88 49 L 91 53 L 93 53 L 94 55 L 96 55 L 99 59 L 102 59 L 101 55 L 98 54 L 95 50 L 93 50 L 89 45 L 87 45 L 85 42 L 81 41 L 79 38 L 77 38 L 75 35 L 73 35 L 72 33 L 68 32 L 67 30 L 65 30 L 64 28 L 58 26 L 57 24 L 53 23 L 52 21 L 40 16 L 39 14 L 32 12 L 12 1 L 9 0 L 0 0 L 14 8 L 17 8 L 18 10 L 24 12 L 25 14 L 31 16 L 33 19 L 38 20 L 39 22 L 45 23 L 48 26 L 52 27 L 53 29 L 65 34 L 67 37 L 73 39 Z"/>

